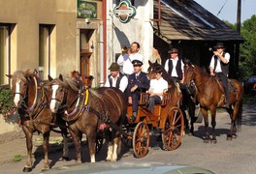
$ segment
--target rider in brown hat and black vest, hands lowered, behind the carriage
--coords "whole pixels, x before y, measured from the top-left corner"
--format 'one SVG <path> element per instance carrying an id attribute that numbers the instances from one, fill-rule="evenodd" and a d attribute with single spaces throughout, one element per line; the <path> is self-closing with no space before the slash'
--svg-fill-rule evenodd
<path id="1" fill-rule="evenodd" d="M 174 78 L 178 83 L 184 82 L 184 64 L 181 59 L 178 58 L 178 50 L 172 48 L 168 53 L 171 58 L 165 63 L 165 70 Z"/>

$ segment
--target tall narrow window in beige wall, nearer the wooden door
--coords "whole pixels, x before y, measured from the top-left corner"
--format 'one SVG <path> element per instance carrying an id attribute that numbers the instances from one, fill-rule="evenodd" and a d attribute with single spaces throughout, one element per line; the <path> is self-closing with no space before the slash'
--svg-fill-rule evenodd
<path id="1" fill-rule="evenodd" d="M 50 43 L 53 28 L 53 25 L 47 24 L 39 26 L 39 75 L 42 79 L 47 79 L 50 74 Z"/>

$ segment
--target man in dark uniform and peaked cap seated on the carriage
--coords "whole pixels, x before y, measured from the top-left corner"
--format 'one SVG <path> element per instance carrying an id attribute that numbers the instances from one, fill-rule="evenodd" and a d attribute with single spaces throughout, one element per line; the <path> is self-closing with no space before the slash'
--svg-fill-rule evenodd
<path id="1" fill-rule="evenodd" d="M 134 67 L 134 73 L 128 78 L 128 102 L 133 105 L 133 115 L 130 120 L 134 122 L 136 120 L 138 112 L 138 102 L 140 100 L 141 93 L 144 93 L 149 88 L 149 79 L 146 73 L 142 72 L 143 62 L 140 60 L 132 61 Z"/>

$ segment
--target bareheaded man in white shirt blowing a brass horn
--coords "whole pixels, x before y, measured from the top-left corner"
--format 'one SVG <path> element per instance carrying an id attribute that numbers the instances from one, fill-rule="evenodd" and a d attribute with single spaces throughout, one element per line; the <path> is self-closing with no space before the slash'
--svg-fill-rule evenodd
<path id="1" fill-rule="evenodd" d="M 127 56 L 123 56 L 123 58 L 119 57 L 117 60 L 118 65 L 123 66 L 123 73 L 129 76 L 130 74 L 134 73 L 133 70 L 133 64 L 132 62 L 134 60 L 140 60 L 141 62 L 144 62 L 144 56 L 139 53 L 140 50 L 140 44 L 137 42 L 134 42 L 131 44 L 130 50 L 127 51 Z M 130 52 L 129 52 L 130 51 Z"/>

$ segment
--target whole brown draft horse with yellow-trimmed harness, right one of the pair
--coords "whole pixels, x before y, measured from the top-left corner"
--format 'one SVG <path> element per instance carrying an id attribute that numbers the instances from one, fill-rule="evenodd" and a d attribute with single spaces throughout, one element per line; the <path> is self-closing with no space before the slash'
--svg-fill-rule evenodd
<path id="1" fill-rule="evenodd" d="M 98 88 L 96 90 L 84 87 L 76 78 L 52 79 L 48 75 L 51 90 L 50 108 L 55 112 L 59 107 L 65 108 L 69 132 L 73 137 L 77 162 L 81 162 L 80 136 L 86 134 L 90 161 L 95 162 L 95 140 L 100 126 L 106 124 L 105 139 L 108 143 L 107 161 L 117 160 L 117 150 L 120 142 L 120 128 L 126 116 L 127 102 L 124 94 L 117 88 Z"/>

